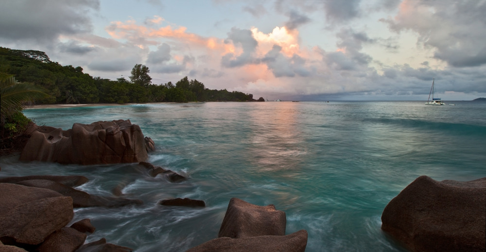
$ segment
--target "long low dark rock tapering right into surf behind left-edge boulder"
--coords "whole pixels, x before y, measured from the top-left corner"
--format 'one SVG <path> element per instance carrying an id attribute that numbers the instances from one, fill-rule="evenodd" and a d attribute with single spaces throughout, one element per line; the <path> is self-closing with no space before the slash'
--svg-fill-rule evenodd
<path id="1" fill-rule="evenodd" d="M 120 207 L 120 206 L 125 206 L 130 204 L 139 205 L 143 203 L 139 199 L 114 198 L 114 197 L 90 195 L 86 192 L 76 190 L 74 188 L 65 186 L 61 183 L 57 183 L 51 180 L 24 180 L 18 182 L 17 184 L 50 189 L 52 191 L 62 194 L 63 196 L 69 196 L 72 198 L 72 206 L 74 208 L 94 207 L 94 206 Z"/>

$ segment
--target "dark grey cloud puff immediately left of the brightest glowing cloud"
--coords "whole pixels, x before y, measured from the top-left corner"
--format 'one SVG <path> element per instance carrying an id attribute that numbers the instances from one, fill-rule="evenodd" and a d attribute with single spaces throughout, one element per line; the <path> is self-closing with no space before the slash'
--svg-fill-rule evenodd
<path id="1" fill-rule="evenodd" d="M 228 33 L 226 43 L 232 41 L 235 46 L 241 46 L 243 53 L 235 56 L 232 53 L 225 54 L 221 59 L 221 64 L 225 67 L 241 67 L 245 64 L 254 62 L 253 53 L 255 52 L 258 42 L 253 38 L 250 30 L 231 28 Z"/>

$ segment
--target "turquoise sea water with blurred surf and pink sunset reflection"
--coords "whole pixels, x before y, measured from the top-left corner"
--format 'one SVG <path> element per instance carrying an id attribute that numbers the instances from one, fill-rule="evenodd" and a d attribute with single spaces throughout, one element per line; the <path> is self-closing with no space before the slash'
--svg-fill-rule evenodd
<path id="1" fill-rule="evenodd" d="M 111 195 L 124 185 L 141 206 L 84 208 L 96 232 L 137 252 L 185 251 L 216 238 L 229 199 L 274 204 L 287 234 L 307 230 L 306 252 L 404 251 L 380 230 L 386 204 L 420 175 L 486 177 L 486 103 L 264 102 L 27 109 L 37 124 L 130 119 L 156 143 L 149 162 L 189 177 L 152 178 L 136 164 L 60 165 L 2 158 L 0 177 L 84 175 L 79 189 Z M 202 199 L 204 209 L 164 207 Z"/>

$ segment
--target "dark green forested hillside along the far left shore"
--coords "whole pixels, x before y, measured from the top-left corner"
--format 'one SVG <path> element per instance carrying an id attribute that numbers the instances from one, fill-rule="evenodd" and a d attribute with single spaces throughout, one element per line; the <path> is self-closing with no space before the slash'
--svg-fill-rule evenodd
<path id="1" fill-rule="evenodd" d="M 240 91 L 209 90 L 202 82 L 184 77 L 175 84 L 152 83 L 150 70 L 136 64 L 129 80 L 92 77 L 81 67 L 62 66 L 49 56 L 34 50 L 0 47 L 0 72 L 12 74 L 18 82 L 31 83 L 50 94 L 36 104 L 149 103 L 256 101 Z"/>

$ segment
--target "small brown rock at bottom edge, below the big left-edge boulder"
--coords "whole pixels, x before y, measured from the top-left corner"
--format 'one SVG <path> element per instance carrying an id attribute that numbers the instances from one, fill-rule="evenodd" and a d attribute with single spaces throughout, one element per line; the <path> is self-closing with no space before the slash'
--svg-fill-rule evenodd
<path id="1" fill-rule="evenodd" d="M 62 228 L 49 235 L 37 248 L 39 252 L 74 252 L 85 243 L 86 234 L 73 228 Z"/>

